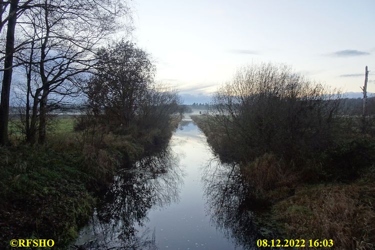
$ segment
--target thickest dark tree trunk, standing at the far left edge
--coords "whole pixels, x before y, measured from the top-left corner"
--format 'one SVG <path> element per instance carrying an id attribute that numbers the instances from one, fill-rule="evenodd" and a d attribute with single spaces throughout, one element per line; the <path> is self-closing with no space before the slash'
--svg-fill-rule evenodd
<path id="1" fill-rule="evenodd" d="M 8 120 L 9 120 L 9 95 L 11 76 L 13 72 L 13 50 L 14 50 L 14 31 L 17 21 L 16 9 L 19 0 L 10 1 L 9 14 L 12 14 L 8 20 L 6 30 L 4 73 L 2 77 L 1 102 L 0 102 L 0 145 L 8 143 Z"/>

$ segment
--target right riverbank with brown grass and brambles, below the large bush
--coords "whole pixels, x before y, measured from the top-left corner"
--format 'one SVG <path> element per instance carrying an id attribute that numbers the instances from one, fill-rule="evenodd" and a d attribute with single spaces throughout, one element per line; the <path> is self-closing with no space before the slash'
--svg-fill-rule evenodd
<path id="1" fill-rule="evenodd" d="M 236 149 L 223 145 L 221 130 L 215 127 L 219 125 L 209 124 L 208 118 L 192 116 L 217 156 L 239 164 L 243 179 L 251 186 L 249 201 L 257 204 L 253 206 L 256 223 L 266 239 L 274 232 L 281 240 L 332 239 L 337 249 L 374 248 L 375 147 L 371 138 L 344 142 L 322 153 L 321 159 L 306 159 L 308 167 L 302 168 L 272 152 L 255 160 L 236 159 Z"/>

